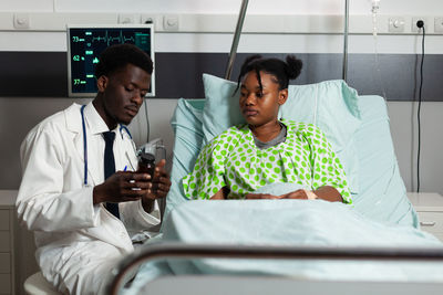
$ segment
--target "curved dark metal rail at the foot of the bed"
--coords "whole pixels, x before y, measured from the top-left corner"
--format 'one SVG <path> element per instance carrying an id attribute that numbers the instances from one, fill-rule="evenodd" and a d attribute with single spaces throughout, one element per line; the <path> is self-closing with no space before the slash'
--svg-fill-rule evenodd
<path id="1" fill-rule="evenodd" d="M 443 262 L 443 249 L 367 249 L 247 246 L 217 244 L 156 244 L 140 249 L 123 260 L 112 272 L 106 294 L 119 294 L 127 275 L 142 263 L 161 259 L 259 259 L 259 260 L 352 260 Z"/>

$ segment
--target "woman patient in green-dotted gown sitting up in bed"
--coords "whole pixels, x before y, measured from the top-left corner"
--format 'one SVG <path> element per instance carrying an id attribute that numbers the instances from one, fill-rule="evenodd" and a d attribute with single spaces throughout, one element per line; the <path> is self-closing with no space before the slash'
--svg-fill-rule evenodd
<path id="1" fill-rule="evenodd" d="M 248 57 L 238 77 L 239 107 L 247 124 L 230 127 L 200 151 L 183 179 L 189 199 L 323 199 L 352 203 L 344 170 L 323 133 L 311 124 L 278 119 L 289 80 L 302 63 L 293 55 Z M 238 91 L 238 86 L 237 89 Z M 295 109 L 297 112 L 297 109 Z M 291 183 L 276 196 L 264 187 Z"/>

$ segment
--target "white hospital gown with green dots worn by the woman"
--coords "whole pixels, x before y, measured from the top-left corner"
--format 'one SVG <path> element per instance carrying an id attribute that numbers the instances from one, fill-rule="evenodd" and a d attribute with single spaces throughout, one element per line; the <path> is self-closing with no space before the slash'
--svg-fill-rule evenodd
<path id="1" fill-rule="evenodd" d="M 323 133 L 311 124 L 281 123 L 287 126 L 286 140 L 266 149 L 257 148 L 246 124 L 215 137 L 183 178 L 185 196 L 209 199 L 228 186 L 228 198 L 241 199 L 266 185 L 292 182 L 310 190 L 331 186 L 343 202 L 352 203 L 343 167 Z"/>

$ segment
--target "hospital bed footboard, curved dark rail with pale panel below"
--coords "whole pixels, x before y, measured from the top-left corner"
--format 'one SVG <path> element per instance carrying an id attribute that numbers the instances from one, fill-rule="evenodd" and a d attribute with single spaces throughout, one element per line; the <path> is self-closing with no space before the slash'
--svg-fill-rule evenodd
<path id="1" fill-rule="evenodd" d="M 112 271 L 106 294 L 116 295 L 143 263 L 169 259 L 349 260 L 443 262 L 442 249 L 363 249 L 159 244 L 140 249 Z M 442 270 L 443 271 L 443 270 Z M 246 278 L 246 280 L 245 280 Z M 319 281 L 300 277 L 245 275 L 182 275 L 147 282 L 144 294 L 441 294 L 443 282 Z M 186 293 L 188 289 L 189 293 Z M 146 289 L 145 289 L 146 291 Z"/>

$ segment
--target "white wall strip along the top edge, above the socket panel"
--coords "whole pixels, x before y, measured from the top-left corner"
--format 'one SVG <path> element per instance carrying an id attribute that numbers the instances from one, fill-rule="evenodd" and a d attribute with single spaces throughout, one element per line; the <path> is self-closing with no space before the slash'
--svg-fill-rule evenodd
<path id="1" fill-rule="evenodd" d="M 140 11 L 167 13 L 238 13 L 240 0 L 2 0 L 0 11 Z M 364 14 L 370 0 L 350 1 L 350 13 Z M 254 14 L 342 14 L 344 0 L 254 0 L 248 13 Z M 381 0 L 385 14 L 433 14 L 443 11 L 441 0 Z"/>

